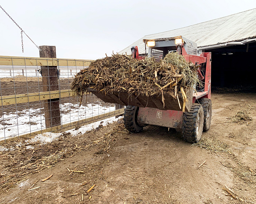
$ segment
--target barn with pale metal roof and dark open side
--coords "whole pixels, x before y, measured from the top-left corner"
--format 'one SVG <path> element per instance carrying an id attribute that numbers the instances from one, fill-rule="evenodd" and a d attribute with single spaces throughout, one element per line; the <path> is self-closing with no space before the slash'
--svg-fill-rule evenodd
<path id="1" fill-rule="evenodd" d="M 192 26 L 145 35 L 119 53 L 137 45 L 145 53 L 143 39 L 182 35 L 194 41 L 198 50 L 212 52 L 212 86 L 256 86 L 256 8 Z"/>

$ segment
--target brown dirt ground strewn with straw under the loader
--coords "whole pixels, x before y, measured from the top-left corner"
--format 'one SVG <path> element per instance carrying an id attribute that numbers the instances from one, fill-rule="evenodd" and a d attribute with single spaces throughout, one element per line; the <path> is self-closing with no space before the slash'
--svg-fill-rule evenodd
<path id="1" fill-rule="evenodd" d="M 256 94 L 215 93 L 212 105 L 198 145 L 157 126 L 127 133 L 122 120 L 35 149 L 5 144 L 19 146 L 0 153 L 0 203 L 255 204 Z M 252 120 L 226 122 L 239 110 Z"/>

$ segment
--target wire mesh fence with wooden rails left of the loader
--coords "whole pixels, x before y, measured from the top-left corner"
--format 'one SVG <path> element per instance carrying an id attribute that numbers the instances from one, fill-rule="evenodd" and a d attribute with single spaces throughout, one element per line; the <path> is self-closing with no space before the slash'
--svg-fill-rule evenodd
<path id="1" fill-rule="evenodd" d="M 120 115 L 117 109 L 122 107 L 104 103 L 91 93 L 81 103 L 72 95 L 74 74 L 89 64 L 82 60 L 0 57 L 0 141 L 61 132 Z M 48 70 L 48 74 L 46 71 L 42 76 L 40 69 Z M 53 69 L 59 72 L 51 75 Z"/>

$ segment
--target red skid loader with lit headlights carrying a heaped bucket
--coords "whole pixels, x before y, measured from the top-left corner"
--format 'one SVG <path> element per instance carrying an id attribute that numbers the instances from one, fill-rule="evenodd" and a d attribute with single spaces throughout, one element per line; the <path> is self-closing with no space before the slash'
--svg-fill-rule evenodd
<path id="1" fill-rule="evenodd" d="M 182 37 L 145 39 L 148 46 L 147 57 L 154 57 L 156 60 L 163 59 L 169 52 L 178 52 L 187 61 L 193 64 L 200 64 L 198 77 L 202 86 L 195 84 L 194 90 L 186 90 L 188 102 L 185 103 L 185 112 L 180 109 L 177 99 L 164 94 L 165 106 L 163 106 L 162 95 L 141 96 L 129 95 L 127 92 L 114 92 L 105 95 L 104 93 L 88 89 L 104 102 L 125 105 L 124 123 L 130 132 L 140 132 L 146 125 L 158 125 L 167 128 L 175 128 L 182 131 L 185 141 L 197 143 L 201 139 L 202 131 L 208 131 L 211 123 L 211 53 L 198 54 L 197 44 Z M 137 46 L 131 47 L 132 57 L 138 60 L 145 58 L 140 56 Z M 179 94 L 181 107 L 183 106 L 182 95 Z"/>

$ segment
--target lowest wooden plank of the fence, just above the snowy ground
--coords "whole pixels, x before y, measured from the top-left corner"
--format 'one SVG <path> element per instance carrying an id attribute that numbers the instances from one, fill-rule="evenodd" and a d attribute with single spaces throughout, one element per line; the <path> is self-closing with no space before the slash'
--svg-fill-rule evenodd
<path id="1" fill-rule="evenodd" d="M 91 124 L 91 123 L 94 123 L 94 122 L 97 122 L 97 121 L 101 121 L 101 120 L 104 120 L 104 119 L 107 119 L 107 118 L 111 118 L 111 117 L 116 116 L 116 115 L 120 115 L 120 114 L 124 113 L 124 110 L 125 109 L 118 109 L 118 110 L 111 111 L 111 112 L 108 112 L 108 113 L 95 115 L 93 117 L 86 118 L 86 119 L 83 119 L 83 120 L 75 121 L 75 122 L 72 122 L 72 123 L 66 123 L 66 124 L 63 124 L 63 125 L 54 126 L 52 128 L 47 128 L 47 129 L 43 129 L 43 130 L 31 132 L 31 133 L 19 135 L 19 136 L 10 137 L 10 138 L 7 138 L 7 139 L 2 139 L 2 140 L 0 140 L 0 143 L 18 140 L 18 138 L 20 138 L 20 137 L 21 138 L 22 137 L 25 137 L 25 138 L 32 137 L 34 135 L 42 134 L 42 133 L 45 133 L 45 132 L 53 132 L 53 133 L 64 132 L 64 131 L 71 130 L 71 129 L 74 129 L 74 128 L 79 128 L 83 125 L 88 125 L 88 124 Z"/>

